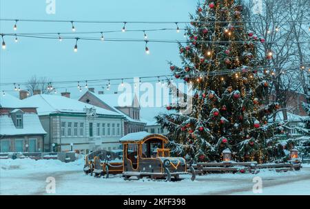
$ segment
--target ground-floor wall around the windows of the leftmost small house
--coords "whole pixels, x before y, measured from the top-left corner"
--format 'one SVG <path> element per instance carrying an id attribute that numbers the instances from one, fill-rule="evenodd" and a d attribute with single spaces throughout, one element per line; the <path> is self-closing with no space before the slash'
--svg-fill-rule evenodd
<path id="1" fill-rule="evenodd" d="M 10 141 L 10 151 L 9 152 L 17 152 L 15 148 L 15 141 L 16 140 L 23 140 L 23 150 L 22 152 L 28 152 L 29 146 L 27 148 L 26 145 L 29 145 L 29 139 L 37 139 L 37 148 L 35 152 L 43 152 L 43 136 L 42 135 L 21 135 L 21 136 L 3 136 L 0 139 L 0 146 L 1 141 L 9 140 Z M 1 150 L 1 147 L 0 147 Z M 2 150 L 1 150 L 2 151 Z"/>

